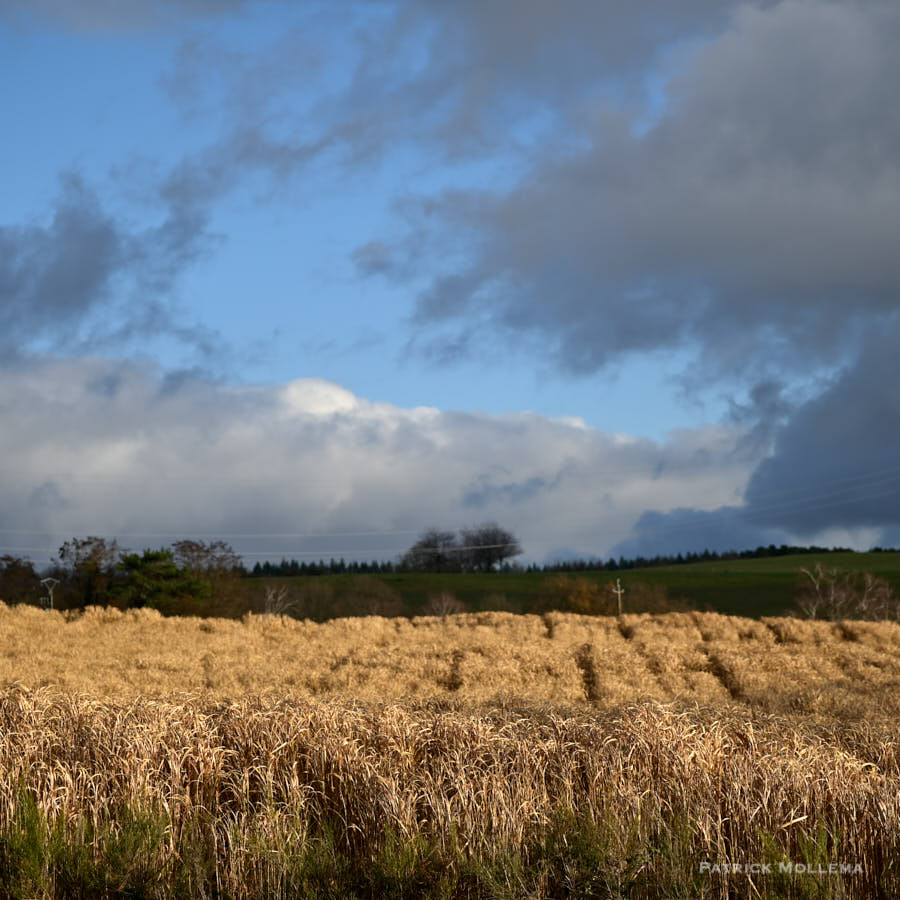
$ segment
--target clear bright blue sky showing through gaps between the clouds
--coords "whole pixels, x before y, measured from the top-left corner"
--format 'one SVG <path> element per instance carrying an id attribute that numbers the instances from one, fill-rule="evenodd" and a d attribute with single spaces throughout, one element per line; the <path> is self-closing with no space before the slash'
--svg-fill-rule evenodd
<path id="1" fill-rule="evenodd" d="M 46 216 L 59 173 L 78 172 L 123 215 L 152 221 L 158 211 L 141 196 L 140 181 L 214 145 L 228 114 L 217 80 L 206 83 L 202 75 L 193 76 L 200 82 L 196 97 L 173 100 L 172 82 L 190 65 L 179 64 L 186 45 L 196 55 L 212 52 L 199 49 L 209 45 L 255 60 L 314 18 L 300 6 L 261 5 L 176 31 L 70 31 L 18 17 L 2 36 L 6 77 L 24 88 L 10 95 L 6 110 L 17 139 L 0 151 L 3 171 L 22 176 L 5 190 L 7 220 Z M 275 104 L 284 119 L 321 102 L 323 92 L 339 91 L 344 69 L 357 62 L 339 34 L 326 29 L 321 40 L 337 56 L 328 64 L 334 71 L 293 85 Z M 290 128 L 280 119 L 273 127 Z M 655 438 L 704 413 L 721 415 L 714 395 L 690 399 L 673 384 L 683 364 L 677 353 L 626 359 L 579 378 L 560 377 L 512 341 L 453 365 L 422 359 L 409 323 L 415 285 L 360 277 L 353 251 L 398 233 L 394 206 L 404 196 L 509 185 L 521 161 L 502 146 L 489 159 L 446 163 L 406 143 L 353 166 L 338 155 L 326 153 L 287 185 L 251 173 L 210 211 L 214 246 L 183 274 L 173 299 L 182 315 L 214 330 L 229 348 L 216 374 L 235 383 L 323 377 L 401 406 L 533 410 Z M 163 341 L 153 356 L 165 366 L 191 365 L 192 350 Z"/>

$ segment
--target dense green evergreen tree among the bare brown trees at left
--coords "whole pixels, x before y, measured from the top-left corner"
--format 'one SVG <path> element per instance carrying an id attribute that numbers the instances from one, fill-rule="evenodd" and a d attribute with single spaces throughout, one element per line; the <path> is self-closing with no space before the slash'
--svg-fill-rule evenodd
<path id="1" fill-rule="evenodd" d="M 183 612 L 186 603 L 210 596 L 209 582 L 179 569 L 171 550 L 123 553 L 117 565 L 121 575 L 114 596 L 124 606 L 150 606 L 162 612 Z"/>

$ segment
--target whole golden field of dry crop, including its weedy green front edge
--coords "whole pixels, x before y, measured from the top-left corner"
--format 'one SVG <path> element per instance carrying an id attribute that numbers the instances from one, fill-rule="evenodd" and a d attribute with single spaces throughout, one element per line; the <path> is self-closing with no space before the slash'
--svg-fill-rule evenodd
<path id="1" fill-rule="evenodd" d="M 0 605 L 0 647 L 2 896 L 900 895 L 895 624 Z"/>

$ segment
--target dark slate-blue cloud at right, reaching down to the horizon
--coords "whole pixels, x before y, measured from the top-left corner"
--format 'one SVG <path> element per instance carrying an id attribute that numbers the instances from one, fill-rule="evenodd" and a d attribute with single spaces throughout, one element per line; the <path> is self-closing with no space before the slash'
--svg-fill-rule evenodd
<path id="1" fill-rule="evenodd" d="M 774 440 L 748 481 L 743 505 L 649 510 L 615 553 L 810 542 L 900 546 L 898 349 L 895 322 L 870 336 L 827 389 L 787 412 L 780 387 L 761 386 L 734 417 L 750 426 L 739 442 L 745 451 Z"/>

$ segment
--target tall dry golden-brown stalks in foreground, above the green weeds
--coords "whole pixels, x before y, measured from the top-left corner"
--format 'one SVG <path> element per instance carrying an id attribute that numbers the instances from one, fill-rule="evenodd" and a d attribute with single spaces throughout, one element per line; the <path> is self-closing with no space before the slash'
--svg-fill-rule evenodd
<path id="1" fill-rule="evenodd" d="M 673 823 L 679 860 L 695 866 L 771 859 L 773 847 L 807 860 L 810 836 L 824 833 L 822 852 L 860 862 L 853 883 L 872 896 L 900 858 L 900 745 L 860 725 L 798 729 L 778 717 L 649 705 L 561 716 L 117 703 L 13 689 L 0 697 L 0 735 L 0 821 L 14 817 L 24 786 L 50 820 L 99 827 L 123 803 L 163 809 L 174 849 L 201 811 L 220 848 L 220 884 L 238 896 L 265 880 L 254 841 L 285 849 L 335 822 L 356 852 L 390 833 L 485 855 L 521 851 L 556 812 L 577 810 L 615 823 L 606 852 L 621 871 L 635 846 L 652 848 Z M 653 866 L 648 854 L 642 868 Z"/>

